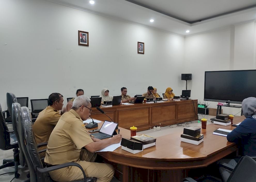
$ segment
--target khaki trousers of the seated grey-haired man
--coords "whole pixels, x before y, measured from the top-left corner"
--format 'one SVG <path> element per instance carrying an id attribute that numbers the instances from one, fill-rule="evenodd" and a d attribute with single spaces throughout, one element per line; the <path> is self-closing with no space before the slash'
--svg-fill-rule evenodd
<path id="1" fill-rule="evenodd" d="M 114 168 L 110 164 L 94 162 L 97 153 L 91 153 L 86 149 L 83 149 L 80 154 L 80 160 L 76 161 L 79 163 L 86 177 L 96 177 L 97 182 L 109 182 L 114 176 Z M 49 172 L 51 178 L 55 181 L 73 181 L 83 178 L 81 169 L 76 166 L 69 166 L 63 169 L 57 169 Z"/>

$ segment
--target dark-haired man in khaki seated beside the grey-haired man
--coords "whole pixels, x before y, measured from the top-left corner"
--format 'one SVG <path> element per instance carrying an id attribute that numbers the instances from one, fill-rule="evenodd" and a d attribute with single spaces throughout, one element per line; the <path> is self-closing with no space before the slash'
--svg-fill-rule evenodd
<path id="1" fill-rule="evenodd" d="M 59 121 L 61 114 L 66 111 L 65 109 L 62 110 L 63 101 L 63 95 L 60 93 L 49 95 L 48 106 L 39 113 L 33 124 L 36 144 L 48 142 L 50 134 Z M 38 151 L 43 149 L 46 149 L 46 146 L 39 147 Z M 45 152 L 40 153 L 40 156 L 44 157 Z"/>

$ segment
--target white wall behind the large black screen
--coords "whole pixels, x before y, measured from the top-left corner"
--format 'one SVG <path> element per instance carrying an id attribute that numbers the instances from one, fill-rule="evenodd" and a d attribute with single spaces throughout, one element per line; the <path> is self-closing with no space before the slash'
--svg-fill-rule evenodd
<path id="1" fill-rule="evenodd" d="M 255 22 L 185 37 L 184 62 L 187 72 L 192 73 L 188 81 L 191 98 L 203 102 L 205 71 L 256 69 L 255 46 Z M 216 102 L 209 103 L 216 108 Z M 223 107 L 224 113 L 239 111 Z"/>

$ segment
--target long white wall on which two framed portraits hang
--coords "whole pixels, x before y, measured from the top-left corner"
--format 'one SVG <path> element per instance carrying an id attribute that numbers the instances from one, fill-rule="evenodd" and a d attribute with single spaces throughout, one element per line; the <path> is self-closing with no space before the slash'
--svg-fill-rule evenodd
<path id="1" fill-rule="evenodd" d="M 119 95 L 123 86 L 131 96 L 149 85 L 181 92 L 184 37 L 39 0 L 1 0 L 0 26 L 3 110 L 6 92 L 29 99 L 73 97 L 79 88 L 87 96 L 104 87 Z M 78 46 L 78 30 L 89 32 L 89 47 Z"/>

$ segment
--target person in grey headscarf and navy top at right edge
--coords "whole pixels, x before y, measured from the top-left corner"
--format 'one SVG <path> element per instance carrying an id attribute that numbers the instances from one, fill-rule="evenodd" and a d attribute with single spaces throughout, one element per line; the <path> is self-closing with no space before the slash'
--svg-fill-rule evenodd
<path id="1" fill-rule="evenodd" d="M 227 135 L 229 142 L 235 142 L 242 149 L 242 156 L 256 156 L 256 98 L 248 97 L 242 102 L 242 110 L 246 119 Z M 236 166 L 238 159 L 222 159 L 220 163 Z M 220 167 L 224 181 L 227 181 L 230 171 Z"/>

